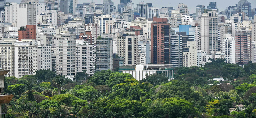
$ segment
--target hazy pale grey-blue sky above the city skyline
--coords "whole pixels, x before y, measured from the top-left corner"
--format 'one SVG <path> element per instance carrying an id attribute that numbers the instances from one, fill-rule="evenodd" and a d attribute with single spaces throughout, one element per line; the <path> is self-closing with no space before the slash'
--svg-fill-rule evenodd
<path id="1" fill-rule="evenodd" d="M 7 2 L 18 2 L 21 0 L 6 0 Z M 42 0 L 40 0 L 42 1 Z M 83 2 L 95 2 L 102 3 L 103 0 L 78 0 L 78 3 L 81 4 Z M 225 10 L 228 6 L 234 6 L 238 3 L 239 0 L 145 0 L 145 3 L 152 3 L 154 7 L 174 7 L 177 9 L 179 3 L 185 3 L 188 5 L 188 10 L 190 13 L 195 13 L 197 5 L 204 5 L 205 7 L 209 5 L 209 2 L 217 2 L 217 8 L 220 11 Z M 248 0 L 251 3 L 252 8 L 256 8 L 256 0 Z M 120 0 L 113 0 L 114 5 L 117 7 L 117 4 L 120 4 Z M 135 4 L 138 4 L 140 0 L 133 0 Z"/>

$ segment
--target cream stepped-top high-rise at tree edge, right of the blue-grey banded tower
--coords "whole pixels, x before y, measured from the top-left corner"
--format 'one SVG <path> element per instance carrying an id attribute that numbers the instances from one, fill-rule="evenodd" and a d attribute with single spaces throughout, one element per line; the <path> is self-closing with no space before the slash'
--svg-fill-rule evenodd
<path id="1" fill-rule="evenodd" d="M 197 66 L 196 41 L 187 41 L 187 45 L 183 47 L 182 53 L 183 67 Z"/>

